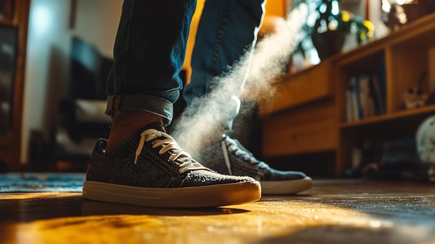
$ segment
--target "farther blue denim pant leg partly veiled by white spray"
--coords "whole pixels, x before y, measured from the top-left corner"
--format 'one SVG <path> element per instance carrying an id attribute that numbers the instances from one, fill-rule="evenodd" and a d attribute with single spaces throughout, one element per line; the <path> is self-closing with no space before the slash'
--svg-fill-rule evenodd
<path id="1" fill-rule="evenodd" d="M 249 58 L 264 14 L 265 0 L 206 0 L 199 22 L 195 47 L 192 53 L 192 76 L 183 91 L 188 106 L 198 97 L 217 89 L 220 82 L 238 83 L 225 94 L 222 101 L 231 115 L 224 126 L 238 114 L 246 74 L 241 79 L 217 79 L 224 76 L 242 56 Z M 248 55 L 246 55 L 248 54 Z M 245 62 L 246 63 L 246 62 Z M 246 69 L 247 71 L 247 69 Z M 240 76 L 239 76 L 240 77 Z M 236 101 L 234 101 L 236 99 Z"/>

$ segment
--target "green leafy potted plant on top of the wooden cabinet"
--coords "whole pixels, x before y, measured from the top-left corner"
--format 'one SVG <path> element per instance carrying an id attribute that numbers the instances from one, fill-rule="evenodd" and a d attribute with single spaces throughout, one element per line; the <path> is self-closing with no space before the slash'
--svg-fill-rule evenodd
<path id="1" fill-rule="evenodd" d="M 320 59 L 327 58 L 341 51 L 348 34 L 356 35 L 357 44 L 373 37 L 373 24 L 346 10 L 340 10 L 339 0 L 295 0 L 296 6 L 306 4 L 313 9 L 310 15 L 316 15 L 315 22 L 306 22 L 306 38 L 311 38 Z M 314 8 L 313 8 L 314 6 Z M 297 50 L 304 56 L 304 41 Z"/>

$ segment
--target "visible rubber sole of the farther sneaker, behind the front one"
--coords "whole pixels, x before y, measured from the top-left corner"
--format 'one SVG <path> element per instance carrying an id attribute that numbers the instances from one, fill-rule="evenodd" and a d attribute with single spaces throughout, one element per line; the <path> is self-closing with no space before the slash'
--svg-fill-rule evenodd
<path id="1" fill-rule="evenodd" d="M 310 177 L 293 181 L 260 181 L 263 195 L 288 195 L 300 193 L 313 186 Z"/>

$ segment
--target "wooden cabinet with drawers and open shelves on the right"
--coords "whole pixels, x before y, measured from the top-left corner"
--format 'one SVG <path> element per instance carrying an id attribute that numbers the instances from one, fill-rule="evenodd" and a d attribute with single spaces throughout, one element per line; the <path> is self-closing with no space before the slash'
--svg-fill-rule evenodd
<path id="1" fill-rule="evenodd" d="M 331 165 L 334 170 L 331 171 L 340 176 L 343 170 L 351 167 L 352 149 L 361 147 L 364 142 L 382 143 L 415 136 L 422 120 L 435 113 L 435 105 L 406 109 L 403 96 L 409 88 L 418 86 L 423 72 L 429 73 L 432 84 L 426 79 L 422 90 L 435 91 L 433 49 L 434 14 L 421 17 L 385 38 L 322 60 L 320 65 L 279 83 L 275 101 L 265 104 L 272 113 L 264 117 L 263 156 L 273 161 L 273 158 L 282 156 L 334 152 L 335 162 Z M 431 51 L 432 57 L 429 56 Z M 384 74 L 386 110 L 381 115 L 347 122 L 346 88 L 350 78 L 361 73 Z M 298 86 L 297 83 L 310 85 Z M 288 90 L 290 88 L 293 90 Z M 295 96 L 299 102 L 294 102 L 291 96 Z M 311 122 L 303 119 L 305 115 L 313 117 L 307 115 L 310 113 L 329 116 L 313 118 Z M 318 136 L 309 135 L 311 140 L 300 139 L 307 136 L 304 131 L 309 131 L 316 123 L 324 124 L 322 132 Z M 277 124 L 281 124 L 281 127 Z M 325 124 L 328 124 L 327 127 Z M 325 131 L 330 136 L 325 137 Z M 278 141 L 279 145 L 271 146 L 273 140 Z M 329 141 L 320 143 L 324 146 L 319 147 L 319 143 L 313 143 L 318 140 Z M 297 143 L 301 145 L 295 146 Z"/>

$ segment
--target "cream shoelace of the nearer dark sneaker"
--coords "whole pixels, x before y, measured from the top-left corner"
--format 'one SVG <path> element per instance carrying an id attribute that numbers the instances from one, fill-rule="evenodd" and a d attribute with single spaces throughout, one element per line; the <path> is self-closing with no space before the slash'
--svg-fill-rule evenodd
<path id="1" fill-rule="evenodd" d="M 154 140 L 156 138 L 161 138 L 162 140 Z M 179 165 L 179 173 L 183 174 L 184 172 L 187 172 L 189 170 L 205 170 L 205 168 L 202 164 L 193 162 L 192 156 L 188 154 L 188 152 L 184 152 L 183 149 L 177 144 L 177 142 L 169 136 L 167 133 L 164 133 L 162 131 L 158 131 L 156 129 L 147 129 L 140 133 L 140 141 L 138 145 L 138 149 L 136 149 L 136 158 L 134 159 L 134 164 L 138 163 L 138 156 L 140 155 L 140 152 L 142 152 L 142 149 L 145 145 L 145 142 L 148 142 L 150 140 L 154 140 L 152 142 L 152 147 L 161 147 L 160 151 L 158 151 L 158 154 L 165 154 L 166 152 L 170 151 L 171 155 L 169 156 L 169 160 L 174 162 L 177 158 L 180 156 L 188 157 L 188 160 L 183 161 Z"/>

